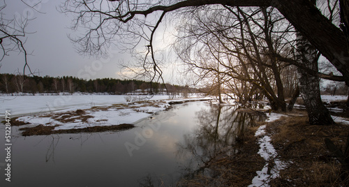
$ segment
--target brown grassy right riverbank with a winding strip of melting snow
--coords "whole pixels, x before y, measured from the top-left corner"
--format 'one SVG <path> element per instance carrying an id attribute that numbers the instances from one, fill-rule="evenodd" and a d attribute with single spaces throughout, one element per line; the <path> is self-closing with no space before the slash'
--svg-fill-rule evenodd
<path id="1" fill-rule="evenodd" d="M 267 114 L 235 145 L 230 157 L 206 163 L 212 175 L 182 179 L 180 186 L 347 186 L 341 163 L 327 149 L 325 138 L 343 149 L 348 124 L 311 126 L 306 112 Z"/>

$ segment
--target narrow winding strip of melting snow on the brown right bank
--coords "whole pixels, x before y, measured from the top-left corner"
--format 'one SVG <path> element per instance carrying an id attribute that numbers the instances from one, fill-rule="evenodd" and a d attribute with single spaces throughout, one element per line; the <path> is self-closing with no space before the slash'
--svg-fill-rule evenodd
<path id="1" fill-rule="evenodd" d="M 266 125 L 260 126 L 258 130 L 256 130 L 255 136 L 260 137 L 258 139 L 258 144 L 260 144 L 258 154 L 266 160 L 266 163 L 262 170 L 256 172 L 257 176 L 252 179 L 252 184 L 250 186 L 269 186 L 270 179 L 279 177 L 279 171 L 287 166 L 286 163 L 276 158 L 276 150 L 270 142 L 272 140 L 271 137 L 265 135 L 265 127 Z"/>

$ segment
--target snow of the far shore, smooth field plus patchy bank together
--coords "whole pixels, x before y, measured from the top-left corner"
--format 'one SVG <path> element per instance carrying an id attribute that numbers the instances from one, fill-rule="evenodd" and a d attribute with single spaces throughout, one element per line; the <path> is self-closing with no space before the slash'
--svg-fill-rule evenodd
<path id="1" fill-rule="evenodd" d="M 151 114 L 165 110 L 170 101 L 200 99 L 202 98 L 169 100 L 169 96 L 112 95 L 6 96 L 1 97 L 0 110 L 10 110 L 12 116 L 22 116 L 17 120 L 28 122 L 29 126 L 43 124 L 56 126 L 54 130 L 61 130 L 134 124 Z"/>

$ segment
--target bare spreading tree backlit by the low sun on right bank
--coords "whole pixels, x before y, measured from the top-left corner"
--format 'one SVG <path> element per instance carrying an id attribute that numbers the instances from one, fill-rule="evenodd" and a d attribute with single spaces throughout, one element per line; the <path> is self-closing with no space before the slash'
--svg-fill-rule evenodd
<path id="1" fill-rule="evenodd" d="M 259 89 L 273 110 L 285 111 L 281 70 L 289 65 L 273 54 L 292 50 L 290 43 L 295 42 L 288 38 L 292 27 L 274 13 L 273 8 L 198 8 L 183 16 L 174 48 L 190 70 L 198 70 L 195 74 L 199 80 L 220 75 L 221 84 L 237 87 L 231 90 L 242 102 L 250 100 Z M 279 25 L 282 29 L 276 29 Z M 292 57 L 290 54 L 285 57 Z"/>

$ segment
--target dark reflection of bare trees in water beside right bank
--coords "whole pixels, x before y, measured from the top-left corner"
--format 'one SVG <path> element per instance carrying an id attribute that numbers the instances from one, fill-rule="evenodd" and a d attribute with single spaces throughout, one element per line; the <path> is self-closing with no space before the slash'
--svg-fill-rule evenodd
<path id="1" fill-rule="evenodd" d="M 261 120 L 261 116 L 237 109 L 237 106 L 213 105 L 195 114 L 198 124 L 195 132 L 184 135 L 184 143 L 179 144 L 179 156 L 192 156 L 184 168 L 185 179 L 198 174 L 216 177 L 220 168 L 215 168 L 213 163 L 238 152 L 237 145 L 244 142 L 246 128 Z"/>

